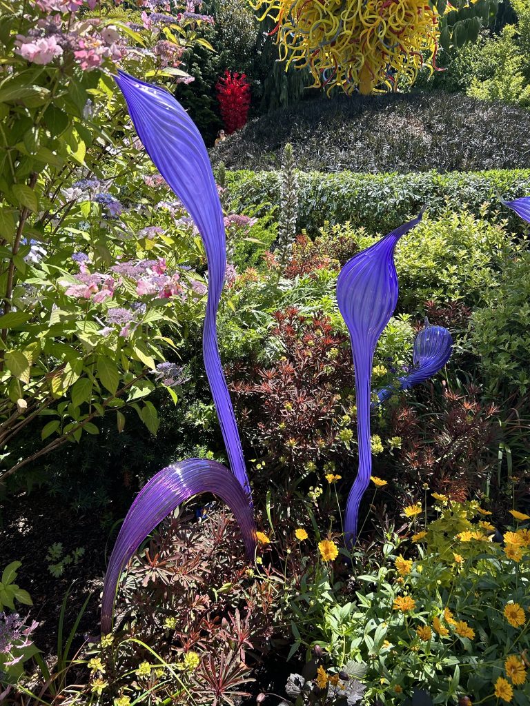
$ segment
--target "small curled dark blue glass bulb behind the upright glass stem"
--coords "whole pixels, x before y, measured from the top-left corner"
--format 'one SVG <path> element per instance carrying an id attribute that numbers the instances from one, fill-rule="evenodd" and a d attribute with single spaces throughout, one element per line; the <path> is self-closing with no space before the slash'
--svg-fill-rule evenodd
<path id="1" fill-rule="evenodd" d="M 377 392 L 377 402 L 372 406 L 386 402 L 398 390 L 409 390 L 414 385 L 425 382 L 443 368 L 451 357 L 453 340 L 443 326 L 430 325 L 425 316 L 425 328 L 420 330 L 414 341 L 413 369 L 393 385 L 388 385 Z"/>

